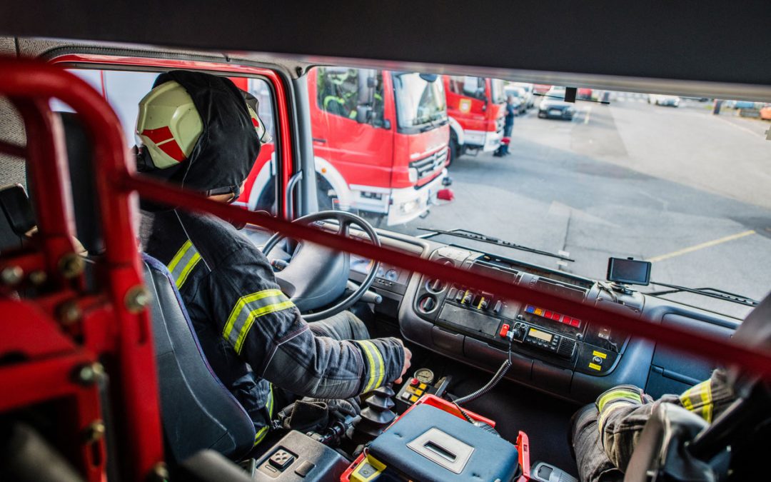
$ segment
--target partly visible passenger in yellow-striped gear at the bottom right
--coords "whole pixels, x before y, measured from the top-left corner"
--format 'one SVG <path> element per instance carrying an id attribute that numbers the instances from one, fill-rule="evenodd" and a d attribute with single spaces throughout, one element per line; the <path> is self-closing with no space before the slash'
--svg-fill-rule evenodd
<path id="1" fill-rule="evenodd" d="M 771 295 L 736 330 L 733 339 L 771 350 Z M 653 399 L 633 385 L 621 385 L 598 396 L 572 420 L 571 438 L 581 482 L 621 482 L 642 429 L 656 406 L 674 403 L 712 423 L 736 400 L 736 370 L 716 369 L 712 376 L 680 395 Z"/>

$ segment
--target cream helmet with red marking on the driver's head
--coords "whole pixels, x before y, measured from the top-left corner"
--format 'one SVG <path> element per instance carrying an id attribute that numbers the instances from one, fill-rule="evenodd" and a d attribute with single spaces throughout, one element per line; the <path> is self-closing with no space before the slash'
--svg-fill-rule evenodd
<path id="1" fill-rule="evenodd" d="M 261 143 L 270 142 L 256 112 L 257 99 L 244 93 L 244 100 Z M 203 132 L 204 123 L 193 98 L 177 81 L 160 84 L 140 100 L 136 134 L 149 150 L 153 167 L 166 169 L 187 160 Z"/>

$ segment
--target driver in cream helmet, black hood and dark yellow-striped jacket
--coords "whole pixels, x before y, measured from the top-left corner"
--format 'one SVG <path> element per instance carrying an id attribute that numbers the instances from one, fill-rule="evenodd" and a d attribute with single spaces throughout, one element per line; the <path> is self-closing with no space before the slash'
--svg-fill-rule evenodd
<path id="1" fill-rule="evenodd" d="M 244 95 L 220 76 L 158 76 L 140 101 L 139 170 L 234 201 L 264 140 L 256 99 L 247 103 Z M 268 259 L 230 223 L 145 203 L 141 232 L 144 251 L 176 281 L 210 366 L 251 416 L 255 444 L 291 401 L 279 401 L 284 391 L 348 399 L 399 382 L 409 367 L 411 353 L 399 339 L 368 339 L 350 312 L 305 322 Z"/>

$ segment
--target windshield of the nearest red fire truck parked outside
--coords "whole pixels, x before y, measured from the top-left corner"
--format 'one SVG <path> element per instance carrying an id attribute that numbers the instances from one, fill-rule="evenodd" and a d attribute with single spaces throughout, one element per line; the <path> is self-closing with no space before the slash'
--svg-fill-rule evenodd
<path id="1" fill-rule="evenodd" d="M 441 79 L 428 82 L 418 73 L 399 73 L 394 76 L 396 116 L 399 127 L 422 126 L 447 118 L 444 86 Z"/>

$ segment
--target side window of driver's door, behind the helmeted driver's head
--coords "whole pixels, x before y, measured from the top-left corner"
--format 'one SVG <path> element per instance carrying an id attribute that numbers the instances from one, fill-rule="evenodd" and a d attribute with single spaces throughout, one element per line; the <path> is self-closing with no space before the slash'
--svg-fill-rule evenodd
<path id="1" fill-rule="evenodd" d="M 69 69 L 86 80 L 113 108 L 123 126 L 128 147 L 140 143 L 135 135 L 136 117 L 139 115 L 140 100 L 150 92 L 159 72 L 134 72 L 130 70 Z M 276 145 L 278 136 L 275 128 L 275 103 L 271 86 L 264 79 L 231 77 L 239 89 L 251 93 L 259 101 L 258 115 L 264 123 L 270 140 L 262 145 L 247 179 L 244 190 L 234 204 L 251 211 L 277 212 L 276 205 Z M 71 111 L 69 106 L 52 101 L 52 110 Z M 268 136 L 266 136 L 266 139 Z"/>

